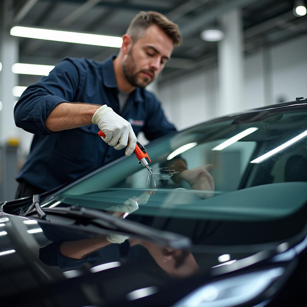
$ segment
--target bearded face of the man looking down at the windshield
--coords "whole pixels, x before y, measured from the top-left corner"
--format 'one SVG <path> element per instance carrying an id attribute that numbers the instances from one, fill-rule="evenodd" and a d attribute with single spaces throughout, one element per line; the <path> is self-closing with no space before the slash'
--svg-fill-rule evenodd
<path id="1" fill-rule="evenodd" d="M 123 73 L 135 87 L 146 87 L 164 68 L 173 51 L 173 41 L 157 26 L 132 44 L 123 62 Z"/>

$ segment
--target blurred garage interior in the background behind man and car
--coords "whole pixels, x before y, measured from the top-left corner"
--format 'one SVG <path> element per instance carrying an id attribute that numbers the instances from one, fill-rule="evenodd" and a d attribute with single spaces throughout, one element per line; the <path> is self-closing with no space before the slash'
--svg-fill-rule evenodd
<path id="1" fill-rule="evenodd" d="M 119 51 L 22 37 L 12 32 L 14 27 L 121 37 L 139 11 L 165 14 L 179 25 L 184 42 L 148 89 L 178 130 L 307 97 L 306 1 L 2 0 L 0 4 L 0 201 L 14 199 L 15 177 L 33 137 L 14 123 L 13 109 L 22 91 L 67 56 L 103 61 Z M 221 36 L 204 37 L 206 30 L 219 30 L 214 33 Z M 37 66 L 16 64 L 44 66 L 36 72 Z M 144 136 L 138 139 L 146 143 Z"/>

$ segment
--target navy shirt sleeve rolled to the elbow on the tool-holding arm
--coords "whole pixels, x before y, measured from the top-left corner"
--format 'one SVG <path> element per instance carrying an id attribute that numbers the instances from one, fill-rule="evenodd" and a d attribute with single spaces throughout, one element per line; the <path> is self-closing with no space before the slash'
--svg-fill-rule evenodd
<path id="1" fill-rule="evenodd" d="M 69 58 L 64 59 L 37 83 L 22 93 L 14 108 L 17 127 L 35 134 L 52 134 L 45 121 L 60 103 L 73 102 L 80 87 L 80 70 Z"/>

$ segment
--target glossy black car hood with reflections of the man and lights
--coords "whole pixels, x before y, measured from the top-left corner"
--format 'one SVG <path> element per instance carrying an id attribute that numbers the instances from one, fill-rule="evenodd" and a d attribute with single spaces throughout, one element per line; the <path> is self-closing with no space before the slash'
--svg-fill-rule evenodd
<path id="1" fill-rule="evenodd" d="M 103 248 L 91 249 L 89 244 L 91 252 L 84 258 L 65 257 L 60 252 L 62 243 L 78 242 L 81 249 L 85 242 L 97 243 L 95 239 L 102 236 L 99 227 L 82 221 L 72 226 L 70 222 L 62 217 L 50 223 L 6 214 L 0 216 L 2 301 L 15 306 L 35 306 L 32 302 L 35 297 L 36 300 L 41 298 L 39 306 L 44 306 L 44 300 L 56 302 L 56 306 L 94 305 L 97 300 L 112 305 L 133 300 L 131 293 L 139 289 L 147 289 L 150 295 L 184 283 L 182 297 L 191 287 L 216 276 L 270 262 L 274 255 L 282 252 L 276 246 L 263 244 L 251 245 L 250 249 L 193 244 L 188 251 L 182 251 L 188 253 L 192 264 L 179 276 L 176 270 L 168 271 L 161 266 L 173 255 L 173 250 L 137 240 L 137 236 Z M 111 232 L 104 230 L 105 234 Z M 170 262 L 170 266 L 174 267 L 174 263 Z"/>

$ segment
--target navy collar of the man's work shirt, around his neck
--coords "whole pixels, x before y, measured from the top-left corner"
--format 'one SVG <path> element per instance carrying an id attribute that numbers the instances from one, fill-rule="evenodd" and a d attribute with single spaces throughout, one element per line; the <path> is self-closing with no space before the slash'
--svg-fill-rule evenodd
<path id="1" fill-rule="evenodd" d="M 117 87 L 117 82 L 114 73 L 113 60 L 116 58 L 116 54 L 112 54 L 108 57 L 102 65 L 103 85 L 106 87 Z M 137 87 L 131 94 L 135 102 L 144 102 L 142 92 L 144 89 Z"/>

